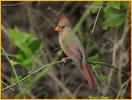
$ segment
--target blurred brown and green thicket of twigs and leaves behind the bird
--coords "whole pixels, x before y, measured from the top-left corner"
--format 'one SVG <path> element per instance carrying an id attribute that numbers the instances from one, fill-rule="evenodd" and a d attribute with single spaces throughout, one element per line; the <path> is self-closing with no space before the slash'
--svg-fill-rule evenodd
<path id="1" fill-rule="evenodd" d="M 94 91 L 81 67 L 58 62 L 60 13 L 81 22 Z M 130 98 L 130 70 L 130 2 L 2 2 L 2 98 Z"/>

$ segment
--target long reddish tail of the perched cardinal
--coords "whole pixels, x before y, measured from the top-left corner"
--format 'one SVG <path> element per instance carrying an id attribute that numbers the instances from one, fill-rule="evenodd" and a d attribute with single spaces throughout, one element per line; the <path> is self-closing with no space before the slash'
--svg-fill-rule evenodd
<path id="1" fill-rule="evenodd" d="M 82 69 L 84 72 L 84 76 L 88 82 L 89 89 L 94 89 L 95 83 L 93 79 L 93 74 L 91 72 L 90 66 L 87 64 L 86 60 L 82 60 Z"/>

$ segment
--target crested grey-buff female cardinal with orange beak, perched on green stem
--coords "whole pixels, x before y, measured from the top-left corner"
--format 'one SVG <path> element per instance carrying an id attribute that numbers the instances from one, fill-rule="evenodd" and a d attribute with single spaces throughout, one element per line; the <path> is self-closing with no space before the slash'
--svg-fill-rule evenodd
<path id="1" fill-rule="evenodd" d="M 77 35 L 75 33 L 71 33 L 72 26 L 68 19 L 68 16 L 60 16 L 55 31 L 59 32 L 59 43 L 62 50 L 69 58 L 75 61 L 78 65 L 82 66 L 84 76 L 88 81 L 89 88 L 93 89 L 95 85 L 94 79 L 89 65 L 86 61 L 84 48 Z"/>

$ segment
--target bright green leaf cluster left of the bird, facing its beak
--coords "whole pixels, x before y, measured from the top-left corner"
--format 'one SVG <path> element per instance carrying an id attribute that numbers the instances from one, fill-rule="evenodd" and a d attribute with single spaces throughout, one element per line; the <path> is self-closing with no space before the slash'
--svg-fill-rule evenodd
<path id="1" fill-rule="evenodd" d="M 35 52 L 42 47 L 42 40 L 30 33 L 21 32 L 17 27 L 10 29 L 9 32 L 11 40 L 19 47 L 17 63 L 24 68 L 31 68 Z"/>

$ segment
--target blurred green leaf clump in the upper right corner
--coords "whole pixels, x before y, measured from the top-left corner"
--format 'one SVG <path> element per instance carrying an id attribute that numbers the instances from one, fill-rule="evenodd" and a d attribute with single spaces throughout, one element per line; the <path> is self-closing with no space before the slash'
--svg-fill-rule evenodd
<path id="1" fill-rule="evenodd" d="M 107 2 L 106 7 L 104 8 L 103 12 L 103 22 L 102 28 L 104 30 L 108 29 L 109 27 L 118 27 L 123 24 L 125 21 L 126 11 L 124 8 L 126 7 L 126 3 L 122 2 Z"/>

